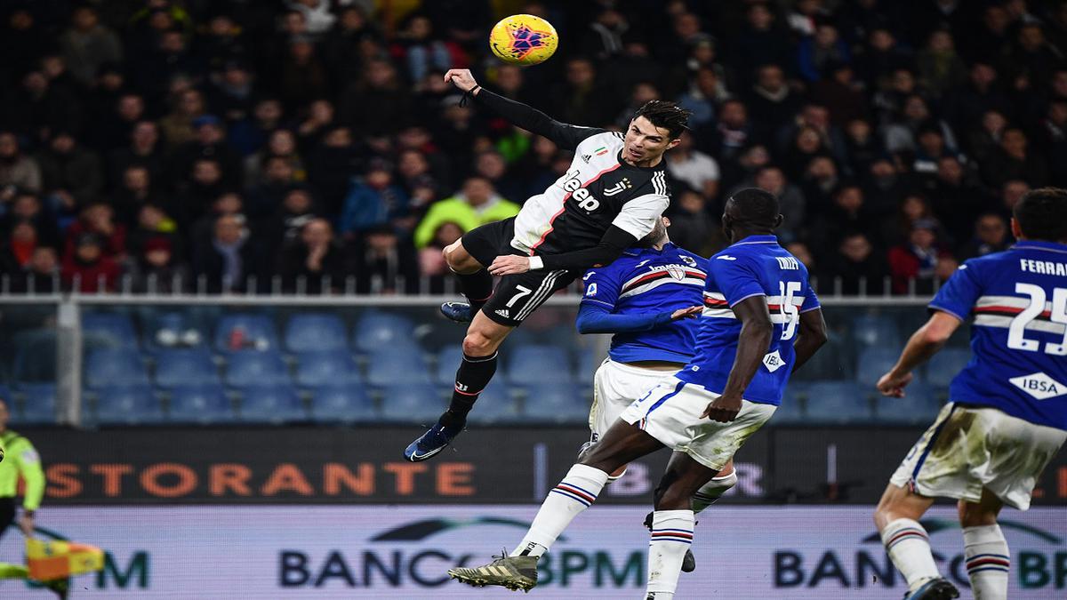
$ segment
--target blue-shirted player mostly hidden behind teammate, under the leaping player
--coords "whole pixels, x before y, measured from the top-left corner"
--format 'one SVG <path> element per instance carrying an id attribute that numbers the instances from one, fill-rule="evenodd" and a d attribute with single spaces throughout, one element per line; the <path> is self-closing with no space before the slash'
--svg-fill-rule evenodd
<path id="1" fill-rule="evenodd" d="M 697 345 L 707 259 L 670 242 L 663 217 L 652 233 L 611 264 L 590 269 L 583 278 L 585 295 L 578 309 L 578 333 L 610 333 L 611 348 L 593 376 L 593 406 L 589 412 L 588 451 L 619 415 L 646 392 L 670 379 L 685 366 Z M 608 476 L 622 477 L 626 467 Z M 729 461 L 719 474 L 692 496 L 699 514 L 737 483 Z M 652 526 L 652 514 L 646 525 Z M 697 567 L 691 552 L 682 571 Z"/>

